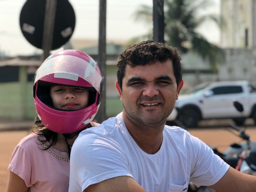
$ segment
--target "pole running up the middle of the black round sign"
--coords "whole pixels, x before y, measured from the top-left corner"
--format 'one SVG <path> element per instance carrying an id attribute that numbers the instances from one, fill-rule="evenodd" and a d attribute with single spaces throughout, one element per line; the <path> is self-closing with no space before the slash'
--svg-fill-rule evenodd
<path id="1" fill-rule="evenodd" d="M 50 50 L 52 49 L 56 7 L 57 0 L 46 0 L 42 42 L 43 60 L 50 55 Z"/>

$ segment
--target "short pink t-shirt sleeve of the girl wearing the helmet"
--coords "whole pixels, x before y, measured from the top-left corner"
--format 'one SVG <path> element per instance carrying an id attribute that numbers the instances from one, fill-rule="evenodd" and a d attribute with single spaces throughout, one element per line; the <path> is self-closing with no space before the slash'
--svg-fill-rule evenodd
<path id="1" fill-rule="evenodd" d="M 25 149 L 21 145 L 17 145 L 12 153 L 10 165 L 8 169 L 21 177 L 27 187 L 31 187 L 31 161 Z"/>

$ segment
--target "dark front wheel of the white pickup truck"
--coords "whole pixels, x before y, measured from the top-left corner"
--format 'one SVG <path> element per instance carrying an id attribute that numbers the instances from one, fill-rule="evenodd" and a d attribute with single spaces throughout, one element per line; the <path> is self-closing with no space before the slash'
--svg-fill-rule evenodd
<path id="1" fill-rule="evenodd" d="M 180 121 L 186 127 L 197 127 L 197 123 L 200 120 L 200 115 L 197 110 L 193 108 L 186 108 L 182 111 Z"/>

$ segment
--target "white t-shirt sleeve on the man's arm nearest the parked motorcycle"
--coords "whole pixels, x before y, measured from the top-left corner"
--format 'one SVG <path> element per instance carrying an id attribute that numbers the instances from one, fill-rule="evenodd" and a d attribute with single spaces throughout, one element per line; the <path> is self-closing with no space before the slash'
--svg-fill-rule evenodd
<path id="1" fill-rule="evenodd" d="M 192 161 L 190 181 L 197 186 L 210 186 L 217 183 L 228 171 L 226 164 L 213 150 L 200 139 L 191 136 Z"/>

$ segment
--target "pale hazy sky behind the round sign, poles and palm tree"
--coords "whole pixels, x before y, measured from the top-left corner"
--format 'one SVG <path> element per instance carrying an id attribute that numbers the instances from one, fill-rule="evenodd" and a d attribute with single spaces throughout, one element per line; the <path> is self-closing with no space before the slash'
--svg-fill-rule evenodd
<path id="1" fill-rule="evenodd" d="M 207 12 L 219 13 L 220 0 Z M 7 55 L 41 53 L 32 46 L 20 30 L 19 17 L 26 0 L 0 0 L 0 51 Z M 71 38 L 98 38 L 99 0 L 69 0 L 76 15 L 75 31 Z M 146 34 L 152 26 L 134 21 L 133 13 L 142 4 L 153 5 L 153 0 L 107 0 L 107 39 L 128 40 Z M 89 27 L 88 27 L 89 26 Z M 213 43 L 219 43 L 218 27 L 208 22 L 199 32 Z"/>

